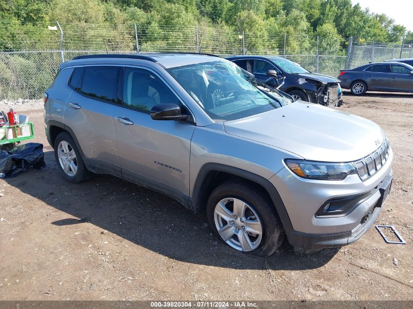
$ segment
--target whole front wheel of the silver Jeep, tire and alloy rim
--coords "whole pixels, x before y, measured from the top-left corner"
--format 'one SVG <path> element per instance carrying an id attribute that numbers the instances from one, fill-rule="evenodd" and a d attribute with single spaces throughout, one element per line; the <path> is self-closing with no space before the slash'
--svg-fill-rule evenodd
<path id="1" fill-rule="evenodd" d="M 242 252 L 269 256 L 283 242 L 274 205 L 260 187 L 248 182 L 217 186 L 208 199 L 207 219 L 218 238 Z"/>

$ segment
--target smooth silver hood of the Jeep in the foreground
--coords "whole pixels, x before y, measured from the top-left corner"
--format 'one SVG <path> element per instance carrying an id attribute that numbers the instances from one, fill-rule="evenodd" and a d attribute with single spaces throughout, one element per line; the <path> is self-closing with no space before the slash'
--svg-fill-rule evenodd
<path id="1" fill-rule="evenodd" d="M 325 162 L 363 158 L 386 137 L 370 120 L 301 101 L 227 121 L 224 128 L 228 134 L 282 148 L 306 160 Z"/>

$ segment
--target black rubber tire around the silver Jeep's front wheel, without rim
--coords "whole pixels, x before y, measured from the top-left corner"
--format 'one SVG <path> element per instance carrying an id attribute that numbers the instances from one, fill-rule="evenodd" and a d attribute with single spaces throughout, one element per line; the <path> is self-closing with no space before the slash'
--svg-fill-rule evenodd
<path id="1" fill-rule="evenodd" d="M 215 224 L 215 207 L 219 201 L 225 198 L 237 198 L 254 207 L 261 221 L 261 243 L 254 250 L 247 251 L 247 253 L 259 256 L 273 254 L 283 243 L 285 232 L 280 217 L 266 192 L 258 185 L 239 180 L 229 180 L 218 185 L 212 191 L 207 203 L 207 219 L 215 235 L 223 242 L 225 241 L 219 235 Z"/>

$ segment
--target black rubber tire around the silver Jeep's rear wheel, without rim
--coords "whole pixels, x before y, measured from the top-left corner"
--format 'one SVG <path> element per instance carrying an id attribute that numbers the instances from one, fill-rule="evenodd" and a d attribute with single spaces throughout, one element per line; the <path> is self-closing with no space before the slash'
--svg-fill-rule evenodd
<path id="1" fill-rule="evenodd" d="M 75 155 L 76 155 L 75 160 L 76 160 L 76 165 L 77 165 L 77 171 L 73 176 L 68 175 L 64 171 L 62 165 L 59 162 L 58 147 L 59 147 L 59 144 L 62 141 L 67 142 L 69 144 L 70 148 L 73 149 L 73 151 L 75 152 Z M 86 165 L 83 161 L 83 158 L 80 154 L 80 151 L 77 148 L 75 141 L 73 140 L 73 138 L 70 136 L 69 133 L 62 132 L 57 136 L 57 138 L 54 142 L 54 154 L 55 154 L 55 160 L 56 160 L 57 168 L 61 171 L 61 173 L 62 173 L 63 177 L 65 178 L 65 180 L 67 180 L 70 183 L 78 184 L 78 183 L 82 183 L 82 182 L 84 182 L 84 181 L 86 181 L 87 179 L 90 178 L 91 173 L 87 170 L 87 167 L 86 167 Z"/>

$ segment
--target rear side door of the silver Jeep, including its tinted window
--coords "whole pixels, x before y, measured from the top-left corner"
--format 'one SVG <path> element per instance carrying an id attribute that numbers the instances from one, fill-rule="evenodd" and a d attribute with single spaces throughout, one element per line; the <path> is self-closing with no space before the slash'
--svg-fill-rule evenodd
<path id="1" fill-rule="evenodd" d="M 87 165 L 114 175 L 121 175 L 112 118 L 119 70 L 86 67 L 81 86 L 74 88 L 65 104 L 65 125 L 74 132 Z"/>

